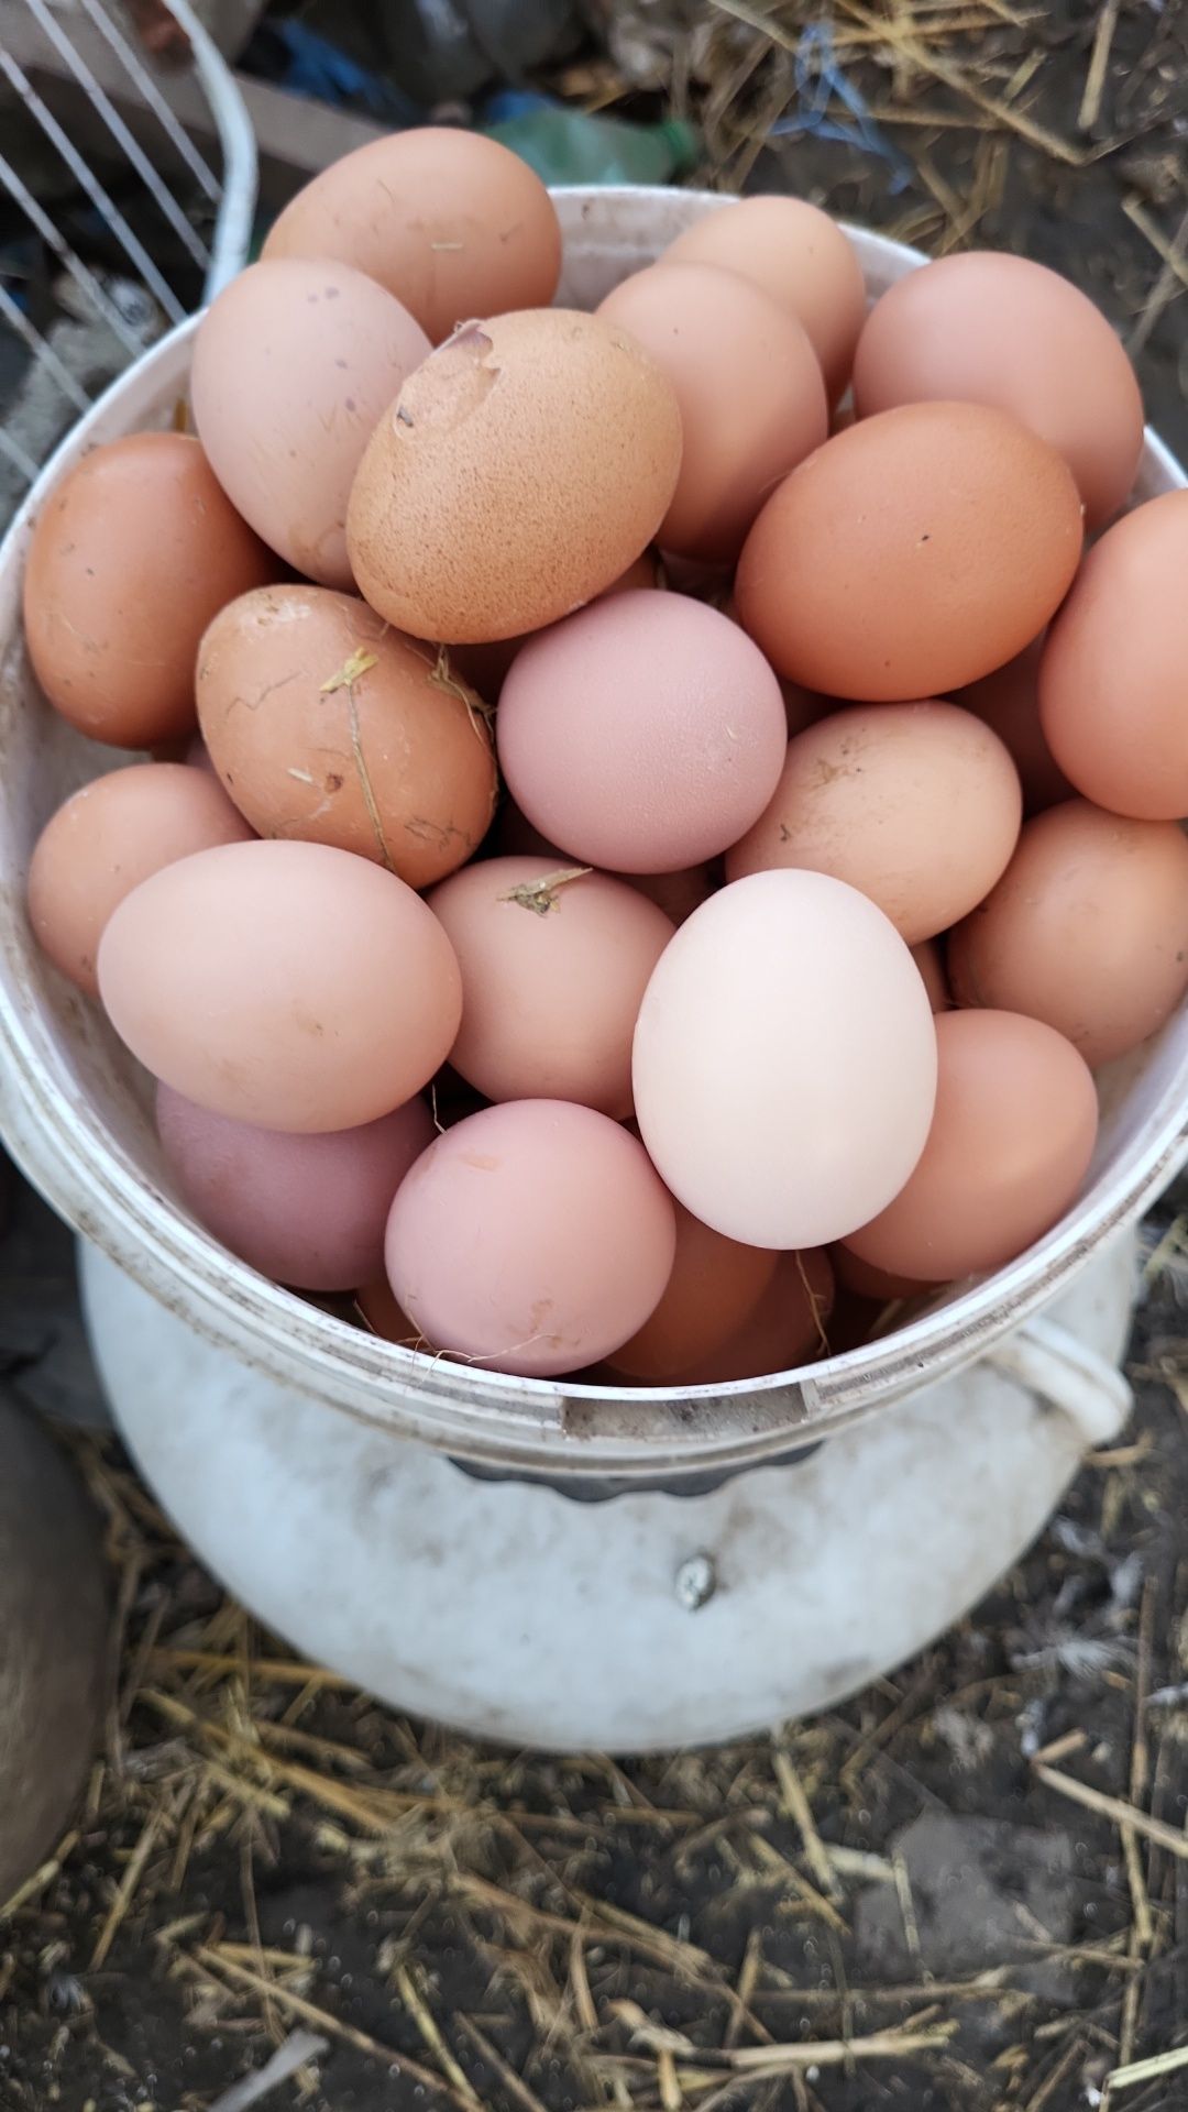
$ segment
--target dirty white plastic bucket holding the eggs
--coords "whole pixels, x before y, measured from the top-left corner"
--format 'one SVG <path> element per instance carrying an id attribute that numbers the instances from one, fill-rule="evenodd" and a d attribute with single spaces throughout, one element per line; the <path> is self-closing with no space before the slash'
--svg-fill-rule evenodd
<path id="1" fill-rule="evenodd" d="M 556 205 L 558 300 L 586 308 L 691 220 L 729 211 L 647 188 L 567 190 Z M 924 262 L 852 239 L 871 296 Z M 681 1392 L 480 1373 L 256 1276 L 180 1206 L 148 1079 L 42 961 L 23 910 L 40 826 L 116 760 L 47 710 L 27 667 L 32 517 L 89 446 L 173 418 L 192 332 L 165 338 L 76 427 L 0 551 L 0 1128 L 87 1242 L 116 1421 L 245 1603 L 395 1704 L 533 1745 L 636 1749 L 835 1700 L 1008 1567 L 1084 1445 L 1118 1428 L 1125 1233 L 1188 1149 L 1188 1007 L 1101 1073 L 1097 1155 L 1055 1231 L 898 1333 L 805 1371 Z M 1184 482 L 1148 435 L 1135 498 Z M 1089 1295 L 1074 1280 L 1091 1265 Z M 1032 1320 L 1057 1299 L 1063 1326 Z M 765 1601 L 744 1647 L 759 1571 Z M 674 1611 L 672 1633 L 643 1620 L 651 1597 Z M 793 1635 L 795 1603 L 816 1611 Z"/>

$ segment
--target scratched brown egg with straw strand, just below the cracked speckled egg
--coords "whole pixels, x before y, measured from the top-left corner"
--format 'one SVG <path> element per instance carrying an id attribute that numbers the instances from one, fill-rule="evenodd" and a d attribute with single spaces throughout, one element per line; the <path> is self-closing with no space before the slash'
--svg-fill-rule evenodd
<path id="1" fill-rule="evenodd" d="M 260 836 L 357 851 L 431 887 L 478 849 L 495 754 L 450 661 L 353 593 L 262 587 L 199 650 L 214 767 Z"/>

